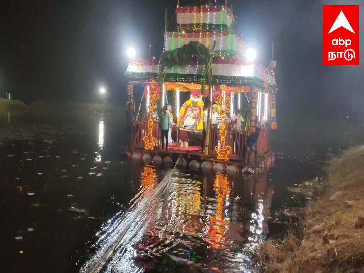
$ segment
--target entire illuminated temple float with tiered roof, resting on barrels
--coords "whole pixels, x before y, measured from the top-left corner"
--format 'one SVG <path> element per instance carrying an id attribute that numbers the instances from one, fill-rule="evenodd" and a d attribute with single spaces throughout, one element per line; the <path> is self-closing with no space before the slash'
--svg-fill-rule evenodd
<path id="1" fill-rule="evenodd" d="M 244 55 L 249 49 L 232 30 L 234 16 L 227 6 L 177 6 L 176 14 L 177 31 L 167 32 L 166 27 L 160 58 L 132 60 L 125 72 L 130 78 L 128 101 L 137 111 L 133 159 L 144 155 L 145 162 L 160 164 L 165 157 L 173 162 L 182 155 L 190 167 L 205 161 L 211 162 L 204 164 L 207 169 L 239 171 L 251 163 L 246 162 L 245 143 L 259 127 L 259 165 L 270 167 L 269 130 L 277 128 L 275 61 L 265 67 Z M 135 86 L 143 86 L 141 96 L 134 94 Z M 173 109 L 168 151 L 162 150 L 158 123 L 166 105 Z M 240 130 L 233 128 L 234 109 L 245 119 Z"/>

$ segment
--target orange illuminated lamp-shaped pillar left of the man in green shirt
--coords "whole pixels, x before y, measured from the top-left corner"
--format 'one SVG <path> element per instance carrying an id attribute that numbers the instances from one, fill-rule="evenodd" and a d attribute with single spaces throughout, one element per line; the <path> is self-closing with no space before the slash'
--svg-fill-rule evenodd
<path id="1" fill-rule="evenodd" d="M 154 120 L 153 114 L 154 109 L 157 107 L 156 101 L 160 97 L 160 89 L 157 82 L 151 81 L 144 88 L 144 96 L 149 101 L 149 117 L 148 117 L 148 134 L 144 136 L 143 141 L 145 143 L 144 148 L 147 150 L 154 150 L 154 146 L 157 143 L 157 139 L 153 136 Z"/>

